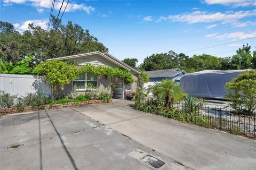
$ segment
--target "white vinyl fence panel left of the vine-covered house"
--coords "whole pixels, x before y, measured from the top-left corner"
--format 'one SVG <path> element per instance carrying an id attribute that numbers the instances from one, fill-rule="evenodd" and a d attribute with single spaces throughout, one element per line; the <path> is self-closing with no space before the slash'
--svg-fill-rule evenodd
<path id="1" fill-rule="evenodd" d="M 51 89 L 44 84 L 43 77 L 36 75 L 0 74 L 0 90 L 18 96 L 30 92 L 51 96 Z"/>

